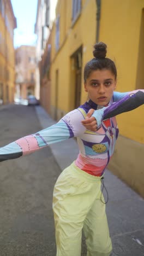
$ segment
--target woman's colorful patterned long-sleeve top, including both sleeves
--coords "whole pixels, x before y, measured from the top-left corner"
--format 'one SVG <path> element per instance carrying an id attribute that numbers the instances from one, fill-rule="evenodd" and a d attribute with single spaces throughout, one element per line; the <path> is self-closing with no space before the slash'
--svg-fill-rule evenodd
<path id="1" fill-rule="evenodd" d="M 109 106 L 103 108 L 88 100 L 66 114 L 57 124 L 0 148 L 0 161 L 19 158 L 52 143 L 77 137 L 80 153 L 75 165 L 89 174 L 101 176 L 112 157 L 118 137 L 115 116 L 141 104 L 144 104 L 144 90 L 113 92 Z M 81 123 L 91 108 L 95 109 L 93 116 L 99 126 L 97 132 L 86 130 Z"/>

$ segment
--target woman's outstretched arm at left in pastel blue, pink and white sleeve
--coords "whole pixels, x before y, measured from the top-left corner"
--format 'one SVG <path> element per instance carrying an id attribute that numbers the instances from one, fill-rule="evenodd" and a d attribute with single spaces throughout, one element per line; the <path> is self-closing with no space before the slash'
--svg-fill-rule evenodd
<path id="1" fill-rule="evenodd" d="M 79 136 L 85 131 L 81 124 L 82 119 L 84 118 L 79 110 L 69 112 L 57 124 L 0 148 L 0 161 L 20 158 L 52 143 Z"/>

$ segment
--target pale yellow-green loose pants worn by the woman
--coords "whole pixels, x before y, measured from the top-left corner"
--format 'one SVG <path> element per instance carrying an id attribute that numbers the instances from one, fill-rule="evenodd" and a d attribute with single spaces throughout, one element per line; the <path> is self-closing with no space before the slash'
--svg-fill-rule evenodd
<path id="1" fill-rule="evenodd" d="M 80 256 L 82 228 L 87 256 L 109 256 L 112 250 L 105 204 L 101 202 L 100 177 L 74 164 L 58 177 L 53 191 L 56 256 Z M 104 197 L 102 196 L 104 201 Z"/>

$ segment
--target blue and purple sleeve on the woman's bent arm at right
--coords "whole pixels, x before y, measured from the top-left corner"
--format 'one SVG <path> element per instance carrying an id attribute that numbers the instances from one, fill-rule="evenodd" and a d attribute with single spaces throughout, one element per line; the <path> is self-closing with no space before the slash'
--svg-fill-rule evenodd
<path id="1" fill-rule="evenodd" d="M 115 117 L 118 114 L 133 110 L 144 104 L 144 90 L 136 90 L 131 92 L 115 92 L 114 101 L 110 106 L 95 110 L 92 117 L 97 120 L 98 129 L 101 121 Z"/>

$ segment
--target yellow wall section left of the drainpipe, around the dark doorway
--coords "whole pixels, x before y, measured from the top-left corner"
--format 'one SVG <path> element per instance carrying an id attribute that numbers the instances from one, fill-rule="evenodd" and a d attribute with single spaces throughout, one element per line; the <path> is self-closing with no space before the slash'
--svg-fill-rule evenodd
<path id="1" fill-rule="evenodd" d="M 67 9 L 67 11 L 66 11 Z M 52 28 L 52 90 L 51 104 L 56 106 L 56 70 L 58 69 L 58 109 L 62 113 L 67 113 L 74 108 L 74 84 L 71 81 L 71 62 L 70 56 L 82 45 L 82 63 L 92 59 L 92 50 L 95 43 L 95 20 L 96 20 L 95 0 L 82 1 L 80 17 L 75 24 L 71 23 L 72 1 L 58 1 L 57 15 L 60 15 L 60 46 L 58 52 L 55 49 L 56 25 Z M 91 15 L 89 15 L 91 14 Z M 94 29 L 93 29 L 94 28 Z M 83 73 L 82 64 L 82 73 Z M 81 81 L 82 92 L 81 102 L 85 102 L 87 95 L 83 90 L 83 77 Z"/>

